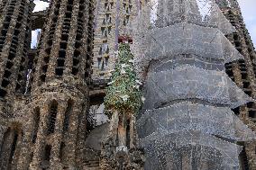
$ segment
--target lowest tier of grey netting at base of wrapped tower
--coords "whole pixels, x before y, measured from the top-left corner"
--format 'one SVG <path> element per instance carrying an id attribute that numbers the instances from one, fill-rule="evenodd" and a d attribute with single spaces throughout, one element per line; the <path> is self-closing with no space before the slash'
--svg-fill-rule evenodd
<path id="1" fill-rule="evenodd" d="M 142 139 L 147 170 L 239 169 L 242 147 L 198 131 L 156 133 Z"/>

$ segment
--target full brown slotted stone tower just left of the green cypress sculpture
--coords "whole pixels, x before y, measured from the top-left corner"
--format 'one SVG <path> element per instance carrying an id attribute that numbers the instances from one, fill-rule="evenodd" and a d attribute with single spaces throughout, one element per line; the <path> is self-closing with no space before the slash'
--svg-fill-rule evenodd
<path id="1" fill-rule="evenodd" d="M 82 168 L 92 54 L 91 0 L 53 0 L 23 108 L 18 169 Z"/>

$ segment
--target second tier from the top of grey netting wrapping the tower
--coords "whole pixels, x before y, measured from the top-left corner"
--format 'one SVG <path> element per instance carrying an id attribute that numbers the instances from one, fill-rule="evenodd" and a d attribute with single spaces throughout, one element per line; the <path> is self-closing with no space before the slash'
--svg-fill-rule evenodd
<path id="1" fill-rule="evenodd" d="M 224 34 L 215 28 L 197 26 L 187 22 L 177 23 L 149 31 L 146 36 L 146 56 L 161 59 L 178 54 L 195 54 L 198 57 L 232 62 L 242 58 Z"/>

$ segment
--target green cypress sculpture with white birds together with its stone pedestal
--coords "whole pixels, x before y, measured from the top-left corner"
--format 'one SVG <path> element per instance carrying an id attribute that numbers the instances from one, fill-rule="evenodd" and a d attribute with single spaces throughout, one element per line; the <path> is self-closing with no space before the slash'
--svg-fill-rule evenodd
<path id="1" fill-rule="evenodd" d="M 102 154 L 101 169 L 142 169 L 142 150 L 137 148 L 135 115 L 142 105 L 142 83 L 134 71 L 133 54 L 126 40 L 119 44 L 118 62 L 107 88 L 105 109 L 112 117 Z"/>

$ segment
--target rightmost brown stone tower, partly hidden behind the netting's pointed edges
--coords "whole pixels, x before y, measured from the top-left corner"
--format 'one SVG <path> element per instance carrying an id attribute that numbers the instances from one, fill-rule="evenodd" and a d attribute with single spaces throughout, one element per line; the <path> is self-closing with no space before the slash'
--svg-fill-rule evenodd
<path id="1" fill-rule="evenodd" d="M 226 18 L 233 24 L 237 32 L 227 35 L 233 46 L 241 52 L 244 59 L 228 63 L 225 65 L 226 73 L 242 90 L 256 98 L 256 53 L 251 37 L 243 22 L 242 13 L 237 1 L 216 1 L 219 4 Z M 247 103 L 233 110 L 240 119 L 252 130 L 256 130 L 256 105 Z M 256 148 L 255 141 L 242 143 L 244 146 L 241 154 L 242 169 L 256 169 Z"/>

